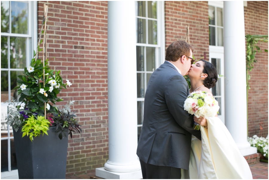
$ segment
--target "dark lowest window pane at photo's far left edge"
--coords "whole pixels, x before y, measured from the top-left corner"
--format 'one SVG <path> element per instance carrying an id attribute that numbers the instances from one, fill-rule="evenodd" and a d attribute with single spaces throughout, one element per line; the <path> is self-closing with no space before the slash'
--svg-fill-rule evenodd
<path id="1" fill-rule="evenodd" d="M 2 132 L 2 124 L 1 137 L 7 137 L 7 133 Z M 8 171 L 7 146 L 7 140 L 1 140 L 1 172 Z"/>

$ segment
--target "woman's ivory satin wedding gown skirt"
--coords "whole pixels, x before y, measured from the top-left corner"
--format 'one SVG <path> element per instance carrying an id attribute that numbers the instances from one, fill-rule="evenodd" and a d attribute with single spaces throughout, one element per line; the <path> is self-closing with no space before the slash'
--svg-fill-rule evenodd
<path id="1" fill-rule="evenodd" d="M 189 170 L 181 169 L 181 179 L 252 179 L 249 165 L 230 132 L 218 117 L 207 119 L 202 140 L 192 138 Z"/>

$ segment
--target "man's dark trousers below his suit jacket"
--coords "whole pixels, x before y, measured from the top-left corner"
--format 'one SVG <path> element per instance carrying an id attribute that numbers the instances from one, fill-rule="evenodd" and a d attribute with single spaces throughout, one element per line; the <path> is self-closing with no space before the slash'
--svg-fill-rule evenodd
<path id="1" fill-rule="evenodd" d="M 143 179 L 181 179 L 181 169 L 169 166 L 155 166 L 140 160 Z"/>

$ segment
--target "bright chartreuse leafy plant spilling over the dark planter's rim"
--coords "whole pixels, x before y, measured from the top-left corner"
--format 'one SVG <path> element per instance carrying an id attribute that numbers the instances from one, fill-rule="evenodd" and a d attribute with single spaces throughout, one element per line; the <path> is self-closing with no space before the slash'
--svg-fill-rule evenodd
<path id="1" fill-rule="evenodd" d="M 44 116 L 37 116 L 37 119 L 32 115 L 29 118 L 27 118 L 26 124 L 22 126 L 22 137 L 25 135 L 29 135 L 29 138 L 31 141 L 33 141 L 33 138 L 36 136 L 39 136 L 42 131 L 42 135 L 44 133 L 48 135 L 49 130 L 49 124 L 50 121 L 45 119 Z"/>

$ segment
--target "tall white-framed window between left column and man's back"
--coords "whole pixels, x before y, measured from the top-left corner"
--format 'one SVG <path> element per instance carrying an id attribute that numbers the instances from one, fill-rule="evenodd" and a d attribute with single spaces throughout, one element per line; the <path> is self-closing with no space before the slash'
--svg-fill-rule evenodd
<path id="1" fill-rule="evenodd" d="M 142 129 L 149 78 L 165 57 L 163 1 L 135 1 L 137 59 L 137 130 Z"/>

